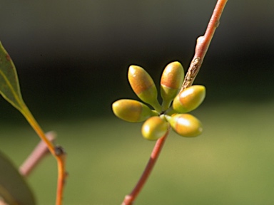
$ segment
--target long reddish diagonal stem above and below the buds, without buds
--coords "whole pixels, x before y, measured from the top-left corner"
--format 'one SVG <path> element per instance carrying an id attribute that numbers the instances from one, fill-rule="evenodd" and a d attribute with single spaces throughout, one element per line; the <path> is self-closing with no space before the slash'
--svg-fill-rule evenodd
<path id="1" fill-rule="evenodd" d="M 225 4 L 227 1 L 228 0 L 217 1 L 213 14 L 211 16 L 211 19 L 208 23 L 208 27 L 206 28 L 205 35 L 200 36 L 197 39 L 195 54 L 191 62 L 191 65 L 188 68 L 188 73 L 186 73 L 186 78 L 183 81 L 181 90 L 184 90 L 193 84 L 193 81 L 195 80 L 196 75 L 198 74 L 198 71 L 200 70 L 201 65 L 203 63 L 203 58 L 205 57 L 205 53 L 208 51 L 208 47 L 215 33 L 215 29 L 219 25 L 220 16 L 223 13 L 223 9 L 225 8 Z M 151 153 L 151 158 L 149 159 L 148 164 L 146 165 L 146 169 L 144 170 L 141 178 L 139 179 L 133 191 L 131 191 L 131 194 L 127 195 L 125 199 L 123 200 L 122 205 L 131 205 L 135 201 L 136 196 L 139 194 L 139 192 L 143 188 L 143 185 L 146 183 L 146 180 L 148 179 L 149 174 L 151 174 L 152 172 L 152 169 L 156 163 L 156 160 L 159 157 L 163 144 L 166 141 L 166 137 L 168 136 L 168 133 L 169 133 L 169 130 L 164 137 L 160 138 L 156 142 L 155 147 L 153 148 L 153 152 Z"/>

